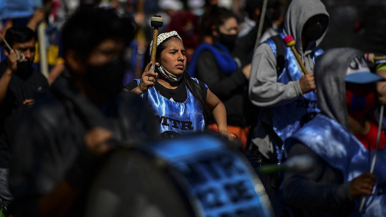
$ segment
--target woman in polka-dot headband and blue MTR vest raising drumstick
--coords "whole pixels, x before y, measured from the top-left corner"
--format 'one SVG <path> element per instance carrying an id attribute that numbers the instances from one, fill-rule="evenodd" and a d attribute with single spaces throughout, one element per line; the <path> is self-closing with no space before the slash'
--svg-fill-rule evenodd
<path id="1" fill-rule="evenodd" d="M 213 112 L 218 133 L 234 140 L 227 129 L 223 103 L 208 87 L 186 73 L 185 48 L 176 31 L 159 34 L 157 38 L 156 70 L 150 71 L 151 45 L 146 53 L 144 73 L 124 86 L 141 95 L 156 113 L 162 137 L 175 137 L 189 132 L 203 132 L 208 110 Z M 150 62 L 150 63 L 149 63 Z M 159 75 L 160 74 L 160 75 Z"/>

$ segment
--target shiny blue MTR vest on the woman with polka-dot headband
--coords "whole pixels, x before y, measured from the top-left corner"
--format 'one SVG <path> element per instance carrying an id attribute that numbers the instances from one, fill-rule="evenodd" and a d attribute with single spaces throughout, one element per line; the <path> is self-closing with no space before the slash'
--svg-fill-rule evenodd
<path id="1" fill-rule="evenodd" d="M 192 79 L 198 83 L 196 78 Z M 135 80 L 139 85 L 141 79 Z M 204 115 L 200 105 L 187 87 L 186 91 L 188 98 L 183 103 L 170 101 L 159 94 L 156 88 L 151 88 L 141 95 L 141 98 L 149 103 L 156 114 L 161 136 L 174 137 L 179 134 L 204 131 Z"/>

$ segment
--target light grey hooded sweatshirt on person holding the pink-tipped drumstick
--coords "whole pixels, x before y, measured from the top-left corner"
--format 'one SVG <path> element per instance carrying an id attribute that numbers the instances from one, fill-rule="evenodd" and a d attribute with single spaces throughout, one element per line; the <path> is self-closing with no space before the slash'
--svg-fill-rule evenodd
<path id="1" fill-rule="evenodd" d="M 303 46 L 305 45 L 301 42 L 301 32 L 307 20 L 319 14 L 328 17 L 327 10 L 320 0 L 293 0 L 288 7 L 284 20 L 284 33 L 294 37 L 296 50 L 301 56 L 307 71 L 310 72 L 314 68 L 312 50 L 320 44 L 325 32 L 319 39 L 310 42 L 304 52 Z M 327 27 L 324 29 L 327 29 Z M 300 69 L 300 66 L 298 68 Z M 260 44 L 254 53 L 248 92 L 249 99 L 254 105 L 267 108 L 261 110 L 259 120 L 270 125 L 272 115 L 269 107 L 284 105 L 303 95 L 299 81 L 289 81 L 287 84 L 277 82 L 276 57 L 267 43 Z M 259 125 L 256 127 L 252 141 L 259 146 L 261 154 L 266 158 L 270 158 L 270 153 L 273 153 L 272 142 Z"/>

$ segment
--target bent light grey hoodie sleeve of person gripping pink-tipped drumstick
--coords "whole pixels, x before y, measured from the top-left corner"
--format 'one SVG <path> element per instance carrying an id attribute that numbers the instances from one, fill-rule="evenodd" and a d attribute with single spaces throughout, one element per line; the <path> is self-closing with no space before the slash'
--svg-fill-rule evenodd
<path id="1" fill-rule="evenodd" d="M 299 81 L 277 82 L 276 57 L 267 43 L 259 45 L 254 53 L 248 93 L 259 107 L 283 105 L 302 95 Z"/>

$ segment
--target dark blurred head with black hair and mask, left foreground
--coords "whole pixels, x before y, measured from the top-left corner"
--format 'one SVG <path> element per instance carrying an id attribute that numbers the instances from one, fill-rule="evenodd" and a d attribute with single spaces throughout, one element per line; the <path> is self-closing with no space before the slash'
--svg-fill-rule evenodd
<path id="1" fill-rule="evenodd" d="M 106 103 L 120 92 L 129 66 L 124 51 L 133 36 L 132 20 L 114 9 L 83 7 L 64 24 L 64 61 L 76 87 L 93 103 Z"/>

